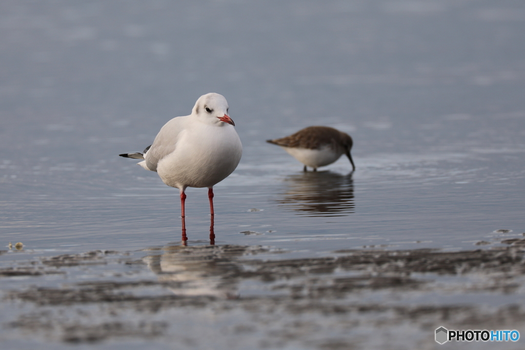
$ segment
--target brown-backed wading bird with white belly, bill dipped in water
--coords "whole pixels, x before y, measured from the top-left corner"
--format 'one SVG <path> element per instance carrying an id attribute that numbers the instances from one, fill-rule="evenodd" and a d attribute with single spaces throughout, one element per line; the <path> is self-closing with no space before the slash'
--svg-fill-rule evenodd
<path id="1" fill-rule="evenodd" d="M 352 137 L 328 126 L 308 126 L 293 135 L 282 137 L 282 139 L 266 140 L 268 143 L 281 146 L 304 164 L 317 171 L 320 166 L 332 164 L 344 153 L 352 164 L 352 172 L 355 170 L 354 161 L 350 155 L 352 149 Z"/>

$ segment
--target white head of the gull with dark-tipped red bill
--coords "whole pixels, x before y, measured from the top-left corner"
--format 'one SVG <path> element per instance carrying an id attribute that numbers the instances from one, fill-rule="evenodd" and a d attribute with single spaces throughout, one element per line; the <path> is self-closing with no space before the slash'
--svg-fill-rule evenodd
<path id="1" fill-rule="evenodd" d="M 192 115 L 195 115 L 206 124 L 216 124 L 218 126 L 232 124 L 235 126 L 228 115 L 228 102 L 226 102 L 224 96 L 218 93 L 207 93 L 199 97 L 195 107 L 193 107 Z"/>

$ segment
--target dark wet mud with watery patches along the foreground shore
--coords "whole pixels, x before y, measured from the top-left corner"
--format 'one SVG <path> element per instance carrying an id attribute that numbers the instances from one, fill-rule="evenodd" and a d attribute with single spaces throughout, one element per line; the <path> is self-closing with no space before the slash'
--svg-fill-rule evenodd
<path id="1" fill-rule="evenodd" d="M 7 349 L 492 348 L 434 341 L 439 326 L 525 330 L 525 238 L 477 245 L 306 259 L 234 245 L 18 258 L 0 269 L 0 341 Z"/>

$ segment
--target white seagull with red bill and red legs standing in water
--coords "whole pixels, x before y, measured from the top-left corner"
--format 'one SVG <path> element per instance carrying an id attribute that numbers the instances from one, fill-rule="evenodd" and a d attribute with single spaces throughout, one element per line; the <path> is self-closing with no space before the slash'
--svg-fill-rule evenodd
<path id="1" fill-rule="evenodd" d="M 213 220 L 213 186 L 232 174 L 239 164 L 243 145 L 234 126 L 224 96 L 207 93 L 199 97 L 192 114 L 177 116 L 164 124 L 144 153 L 120 154 L 143 159 L 137 164 L 157 172 L 166 185 L 180 190 L 183 236 L 186 187 L 208 187 Z"/>

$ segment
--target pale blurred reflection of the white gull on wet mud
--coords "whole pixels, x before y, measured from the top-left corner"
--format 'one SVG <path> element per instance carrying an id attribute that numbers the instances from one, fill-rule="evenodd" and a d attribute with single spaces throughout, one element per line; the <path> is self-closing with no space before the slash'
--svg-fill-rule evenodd
<path id="1" fill-rule="evenodd" d="M 238 284 L 245 274 L 239 257 L 244 246 L 166 246 L 161 254 L 143 261 L 177 295 L 237 298 Z"/>

